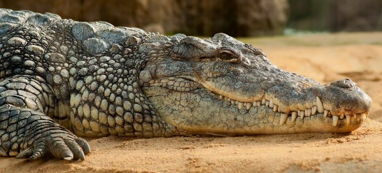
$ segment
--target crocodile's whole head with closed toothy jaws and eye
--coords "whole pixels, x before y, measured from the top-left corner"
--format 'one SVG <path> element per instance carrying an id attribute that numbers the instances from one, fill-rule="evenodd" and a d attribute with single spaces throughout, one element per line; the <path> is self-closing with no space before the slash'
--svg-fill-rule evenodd
<path id="1" fill-rule="evenodd" d="M 172 41 L 152 48 L 139 82 L 159 116 L 179 130 L 342 133 L 360 127 L 371 109 L 370 96 L 351 80 L 321 85 L 225 34 Z"/>

